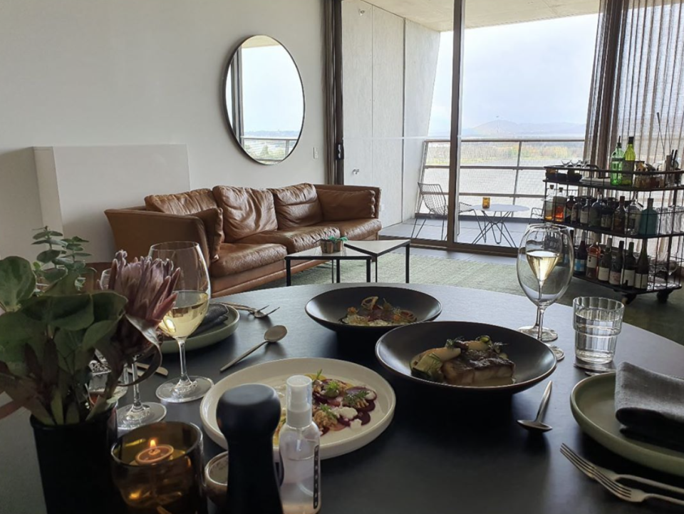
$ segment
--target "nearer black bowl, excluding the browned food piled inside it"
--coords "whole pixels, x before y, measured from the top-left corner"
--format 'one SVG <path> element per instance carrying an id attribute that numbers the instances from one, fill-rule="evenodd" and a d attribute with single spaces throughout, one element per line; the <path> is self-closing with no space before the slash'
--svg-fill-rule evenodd
<path id="1" fill-rule="evenodd" d="M 492 341 L 506 344 L 504 351 L 515 363 L 514 384 L 505 386 L 452 386 L 419 379 L 411 374 L 410 362 L 421 351 L 444 346 L 447 339 L 463 336 L 475 339 L 487 335 Z M 375 345 L 375 355 L 380 364 L 405 379 L 430 386 L 467 391 L 473 394 L 498 391 L 515 394 L 544 380 L 556 369 L 554 352 L 546 344 L 517 330 L 484 323 L 434 322 L 417 323 L 398 327 L 380 337 Z"/>

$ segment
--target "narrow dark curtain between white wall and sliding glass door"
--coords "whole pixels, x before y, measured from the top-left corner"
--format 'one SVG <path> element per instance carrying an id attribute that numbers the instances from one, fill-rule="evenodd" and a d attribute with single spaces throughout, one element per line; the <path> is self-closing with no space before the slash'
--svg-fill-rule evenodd
<path id="1" fill-rule="evenodd" d="M 326 183 L 343 183 L 342 0 L 323 0 L 323 88 L 326 98 Z"/>

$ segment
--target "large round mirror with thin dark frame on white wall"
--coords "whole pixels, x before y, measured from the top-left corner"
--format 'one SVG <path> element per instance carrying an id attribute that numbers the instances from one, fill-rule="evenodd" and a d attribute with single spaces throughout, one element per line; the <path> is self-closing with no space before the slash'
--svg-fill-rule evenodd
<path id="1" fill-rule="evenodd" d="M 261 164 L 287 158 L 304 124 L 304 88 L 289 51 L 274 38 L 252 36 L 233 53 L 224 106 L 235 139 Z"/>

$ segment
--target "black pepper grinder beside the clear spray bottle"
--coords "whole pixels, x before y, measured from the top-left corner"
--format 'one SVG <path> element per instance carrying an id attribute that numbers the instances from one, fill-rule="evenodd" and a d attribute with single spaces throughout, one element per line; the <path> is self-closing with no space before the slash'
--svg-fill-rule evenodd
<path id="1" fill-rule="evenodd" d="M 283 514 L 273 458 L 281 406 L 275 389 L 245 384 L 226 391 L 216 409 L 228 441 L 225 514 Z"/>

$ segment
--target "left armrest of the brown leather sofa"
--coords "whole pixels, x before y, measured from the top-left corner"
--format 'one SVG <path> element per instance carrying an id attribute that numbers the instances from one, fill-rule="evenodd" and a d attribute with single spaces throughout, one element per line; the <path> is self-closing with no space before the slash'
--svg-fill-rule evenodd
<path id="1" fill-rule="evenodd" d="M 105 216 L 116 247 L 128 252 L 131 259 L 147 255 L 150 246 L 160 242 L 192 241 L 199 245 L 209 265 L 207 233 L 199 217 L 152 212 L 145 207 L 108 209 Z"/>

